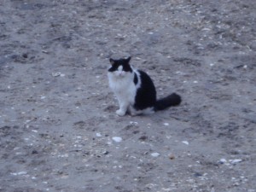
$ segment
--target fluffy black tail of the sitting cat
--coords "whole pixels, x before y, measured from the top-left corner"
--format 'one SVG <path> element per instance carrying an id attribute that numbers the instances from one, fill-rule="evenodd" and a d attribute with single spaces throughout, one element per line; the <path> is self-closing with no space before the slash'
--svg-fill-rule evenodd
<path id="1" fill-rule="evenodd" d="M 177 106 L 181 103 L 181 96 L 176 93 L 172 93 L 170 96 L 166 96 L 158 101 L 154 105 L 154 111 L 164 110 L 166 108 Z"/>

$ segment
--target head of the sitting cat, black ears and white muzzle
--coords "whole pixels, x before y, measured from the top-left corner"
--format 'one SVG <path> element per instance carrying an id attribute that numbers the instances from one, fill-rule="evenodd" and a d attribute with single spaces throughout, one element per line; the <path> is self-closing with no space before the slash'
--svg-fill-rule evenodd
<path id="1" fill-rule="evenodd" d="M 125 77 L 127 73 L 132 73 L 132 68 L 129 64 L 131 57 L 127 59 L 119 59 L 113 60 L 112 58 L 109 59 L 111 63 L 111 67 L 108 69 L 108 73 L 113 73 L 116 77 Z"/>

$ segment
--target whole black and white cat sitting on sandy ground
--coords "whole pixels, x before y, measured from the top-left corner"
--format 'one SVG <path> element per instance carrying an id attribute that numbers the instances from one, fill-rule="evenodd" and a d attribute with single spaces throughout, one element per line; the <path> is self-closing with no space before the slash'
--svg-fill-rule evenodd
<path id="1" fill-rule="evenodd" d="M 126 112 L 131 115 L 154 113 L 171 106 L 177 106 L 181 97 L 176 93 L 160 100 L 156 99 L 154 83 L 147 73 L 134 69 L 127 59 L 109 59 L 111 67 L 108 69 L 109 86 L 119 101 L 119 116 Z"/>

